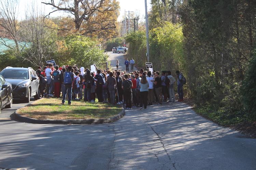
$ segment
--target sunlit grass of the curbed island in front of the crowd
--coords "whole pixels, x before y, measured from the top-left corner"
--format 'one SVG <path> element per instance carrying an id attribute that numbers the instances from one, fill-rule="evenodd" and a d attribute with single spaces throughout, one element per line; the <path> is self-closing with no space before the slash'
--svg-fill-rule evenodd
<path id="1" fill-rule="evenodd" d="M 120 105 L 71 101 L 61 105 L 61 99 L 43 98 L 20 108 L 17 114 L 34 119 L 100 119 L 110 118 L 122 111 Z"/>

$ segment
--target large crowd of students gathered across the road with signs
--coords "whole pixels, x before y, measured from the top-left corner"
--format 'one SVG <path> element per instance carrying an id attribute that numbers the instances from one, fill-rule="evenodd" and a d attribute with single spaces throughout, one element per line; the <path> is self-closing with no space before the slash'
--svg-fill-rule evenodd
<path id="1" fill-rule="evenodd" d="M 126 62 L 128 59 L 126 60 Z M 134 64 L 134 60 L 131 60 Z M 118 61 L 117 61 L 118 62 Z M 129 61 L 128 61 L 129 62 Z M 131 62 L 129 62 L 130 64 Z M 111 71 L 110 69 L 100 70 L 96 66 L 96 72 L 77 65 L 53 67 L 46 64 L 37 74 L 40 78 L 39 97 L 62 98 L 62 103 L 68 99 L 83 100 L 85 102 L 98 102 L 125 104 L 126 109 L 132 107 L 147 108 L 147 105 L 162 105 L 162 102 L 175 102 L 174 84 L 175 78 L 171 71 Z M 133 65 L 132 68 L 133 69 Z M 183 85 L 186 79 L 182 73 L 176 71 L 178 101 L 183 101 Z M 62 94 L 62 96 L 61 96 Z"/>

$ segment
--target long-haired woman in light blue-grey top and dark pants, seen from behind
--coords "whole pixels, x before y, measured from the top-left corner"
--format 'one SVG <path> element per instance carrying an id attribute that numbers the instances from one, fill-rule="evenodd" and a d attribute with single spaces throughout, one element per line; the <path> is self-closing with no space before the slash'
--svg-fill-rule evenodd
<path id="1" fill-rule="evenodd" d="M 147 95 L 148 95 L 149 84 L 147 82 L 146 76 L 143 75 L 140 81 L 140 109 L 144 104 L 144 109 L 147 109 Z"/>

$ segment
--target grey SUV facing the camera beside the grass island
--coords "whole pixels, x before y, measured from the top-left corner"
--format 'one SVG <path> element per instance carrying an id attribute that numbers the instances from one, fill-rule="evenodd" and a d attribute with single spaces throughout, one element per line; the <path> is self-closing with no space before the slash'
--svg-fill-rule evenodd
<path id="1" fill-rule="evenodd" d="M 31 96 L 34 96 L 35 100 L 38 99 L 39 77 L 31 67 L 6 67 L 0 75 L 12 84 L 14 99 L 25 99 L 28 103 Z"/>

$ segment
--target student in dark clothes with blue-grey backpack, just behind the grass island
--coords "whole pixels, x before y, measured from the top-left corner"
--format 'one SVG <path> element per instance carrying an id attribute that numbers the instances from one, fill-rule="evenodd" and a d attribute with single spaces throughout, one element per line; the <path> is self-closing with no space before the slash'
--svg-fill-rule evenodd
<path id="1" fill-rule="evenodd" d="M 102 96 L 102 88 L 103 84 L 105 84 L 105 78 L 104 75 L 101 73 L 101 70 L 97 70 L 97 75 L 95 76 L 95 91 L 99 100 L 99 103 L 103 102 L 103 96 Z"/>

